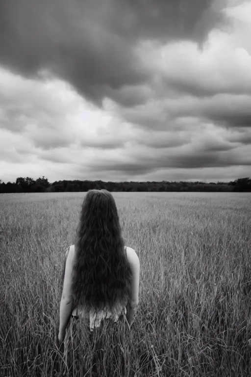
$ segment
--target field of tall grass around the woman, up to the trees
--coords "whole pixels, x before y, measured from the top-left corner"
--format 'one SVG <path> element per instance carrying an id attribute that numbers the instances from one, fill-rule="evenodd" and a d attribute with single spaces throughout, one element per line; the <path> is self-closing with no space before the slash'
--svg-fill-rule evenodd
<path id="1" fill-rule="evenodd" d="M 250 193 L 112 194 L 141 264 L 126 376 L 251 376 Z M 0 376 L 54 376 L 60 274 L 84 195 L 0 195 Z M 74 357 L 64 376 L 90 368 L 81 344 Z"/>

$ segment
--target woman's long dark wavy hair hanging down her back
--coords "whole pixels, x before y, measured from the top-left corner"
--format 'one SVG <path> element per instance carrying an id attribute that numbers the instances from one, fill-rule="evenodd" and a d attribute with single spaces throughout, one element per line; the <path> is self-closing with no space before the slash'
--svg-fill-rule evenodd
<path id="1" fill-rule="evenodd" d="M 89 190 L 75 237 L 73 309 L 114 308 L 130 298 L 131 272 L 112 194 Z"/>

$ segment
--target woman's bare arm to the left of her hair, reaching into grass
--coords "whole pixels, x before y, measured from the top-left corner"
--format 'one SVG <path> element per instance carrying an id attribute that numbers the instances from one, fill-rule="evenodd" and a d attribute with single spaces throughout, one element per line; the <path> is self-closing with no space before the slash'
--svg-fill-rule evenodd
<path id="1" fill-rule="evenodd" d="M 60 301 L 59 312 L 59 332 L 58 340 L 62 343 L 65 338 L 66 328 L 70 321 L 72 309 L 73 309 L 73 294 L 72 294 L 72 275 L 73 275 L 73 250 L 69 250 L 66 264 L 65 264 L 65 276 L 63 284 L 63 292 Z"/>

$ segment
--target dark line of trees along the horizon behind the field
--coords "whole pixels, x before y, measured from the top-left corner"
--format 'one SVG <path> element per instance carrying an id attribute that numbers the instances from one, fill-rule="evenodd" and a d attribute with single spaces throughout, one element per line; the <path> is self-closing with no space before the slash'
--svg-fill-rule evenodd
<path id="1" fill-rule="evenodd" d="M 239 178 L 233 182 L 103 182 L 103 181 L 55 181 L 44 176 L 36 180 L 19 177 L 16 182 L 0 180 L 0 193 L 10 192 L 73 192 L 105 188 L 108 191 L 223 191 L 251 192 L 251 178 Z"/>

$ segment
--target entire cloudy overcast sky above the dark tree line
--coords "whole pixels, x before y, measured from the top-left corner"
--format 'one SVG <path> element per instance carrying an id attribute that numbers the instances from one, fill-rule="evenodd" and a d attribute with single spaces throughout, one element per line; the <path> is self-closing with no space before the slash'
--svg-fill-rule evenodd
<path id="1" fill-rule="evenodd" d="M 251 1 L 0 0 L 0 179 L 251 177 Z"/>

